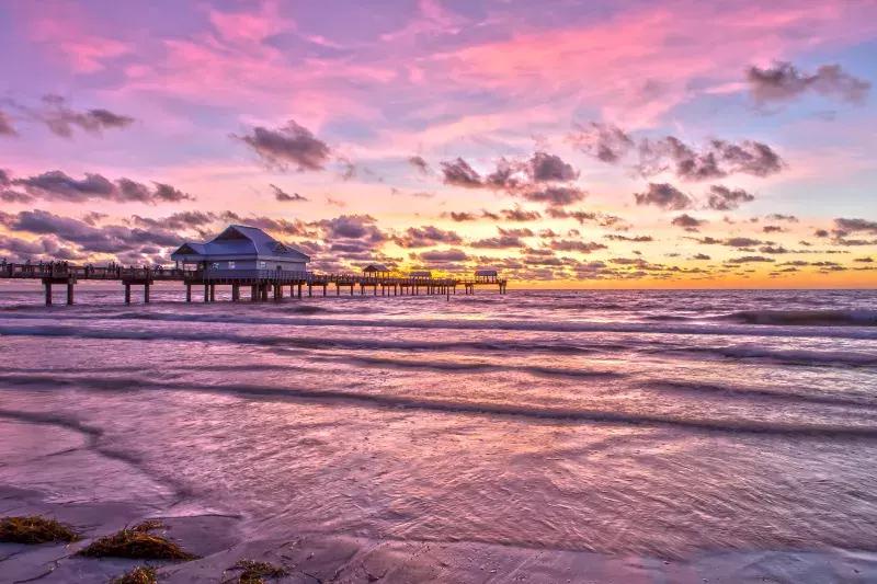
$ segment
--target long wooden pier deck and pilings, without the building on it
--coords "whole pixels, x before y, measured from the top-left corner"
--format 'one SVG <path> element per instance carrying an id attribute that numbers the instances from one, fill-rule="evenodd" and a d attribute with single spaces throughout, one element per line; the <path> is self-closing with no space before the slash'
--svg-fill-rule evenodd
<path id="1" fill-rule="evenodd" d="M 205 302 L 216 301 L 216 287 L 229 286 L 231 301 L 241 301 L 241 288 L 249 289 L 249 300 L 267 301 L 269 298 L 280 300 L 288 287 L 289 297 L 303 298 L 305 290 L 312 297 L 315 288 L 327 296 L 330 286 L 334 286 L 335 296 L 345 294 L 354 296 L 356 288 L 360 295 L 371 293 L 372 296 L 420 296 L 457 294 L 463 287 L 464 294 L 475 294 L 476 286 L 497 286 L 500 294 L 505 294 L 508 280 L 496 275 L 471 278 L 395 276 L 391 274 L 355 275 L 355 274 L 319 274 L 315 272 L 284 272 L 273 270 L 184 270 L 184 268 L 145 268 L 122 266 L 78 266 L 65 263 L 43 264 L 0 264 L 0 279 L 39 279 L 45 289 L 46 306 L 52 305 L 53 286 L 67 287 L 67 305 L 75 301 L 76 284 L 82 280 L 119 282 L 124 286 L 125 304 L 132 301 L 132 286 L 143 286 L 144 302 L 149 302 L 149 293 L 153 284 L 159 282 L 180 282 L 185 285 L 185 300 L 192 301 L 193 287 L 202 288 Z"/>

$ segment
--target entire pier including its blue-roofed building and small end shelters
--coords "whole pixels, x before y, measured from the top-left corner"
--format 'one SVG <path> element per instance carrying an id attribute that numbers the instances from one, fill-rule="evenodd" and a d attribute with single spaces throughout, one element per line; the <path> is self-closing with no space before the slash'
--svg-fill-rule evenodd
<path id="1" fill-rule="evenodd" d="M 381 296 L 420 296 L 475 294 L 477 286 L 496 286 L 505 294 L 508 280 L 494 270 L 476 271 L 471 277 L 433 276 L 431 272 L 395 274 L 386 266 L 372 264 L 362 274 L 320 274 L 307 270 L 310 257 L 294 248 L 280 243 L 264 231 L 247 226 L 229 226 L 207 243 L 183 243 L 171 254 L 174 267 L 124 267 L 121 265 L 79 266 L 66 262 L 38 264 L 0 264 L 0 278 L 39 279 L 45 290 L 46 306 L 53 302 L 53 287 L 66 287 L 67 305 L 75 304 L 76 284 L 82 280 L 119 282 L 124 286 L 125 304 L 132 301 L 132 287 L 143 287 L 144 302 L 149 302 L 151 287 L 160 282 L 185 285 L 185 300 L 193 300 L 193 288 L 203 288 L 203 301 L 216 301 L 216 287 L 231 288 L 231 300 L 253 302 L 280 300 L 288 288 L 289 297 L 322 296 L 334 286 L 335 296 L 342 289 L 354 295 L 371 291 Z M 241 295 L 241 290 L 247 296 Z"/>

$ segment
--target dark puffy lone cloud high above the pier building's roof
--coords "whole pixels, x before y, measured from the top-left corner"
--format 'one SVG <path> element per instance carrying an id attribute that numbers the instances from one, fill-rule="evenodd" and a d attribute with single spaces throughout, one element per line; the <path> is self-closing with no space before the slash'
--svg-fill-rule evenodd
<path id="1" fill-rule="evenodd" d="M 281 170 L 291 164 L 298 172 L 324 170 L 332 152 L 324 141 L 316 138 L 294 119 L 282 128 L 257 126 L 250 134 L 232 134 L 232 138 L 252 148 L 269 168 Z"/>

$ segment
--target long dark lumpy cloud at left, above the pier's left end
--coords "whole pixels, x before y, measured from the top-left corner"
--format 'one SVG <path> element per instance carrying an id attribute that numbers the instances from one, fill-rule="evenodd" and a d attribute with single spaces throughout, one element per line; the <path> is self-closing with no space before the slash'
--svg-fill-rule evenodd
<path id="1" fill-rule="evenodd" d="M 84 179 L 78 180 L 59 170 L 25 179 L 15 179 L 12 184 L 23 187 L 33 197 L 69 203 L 103 199 L 113 203 L 157 205 L 159 203 L 194 201 L 193 196 L 164 183 L 152 183 L 153 186 L 150 187 L 130 179 L 122 178 L 111 182 L 101 174 L 90 173 L 86 173 Z"/>

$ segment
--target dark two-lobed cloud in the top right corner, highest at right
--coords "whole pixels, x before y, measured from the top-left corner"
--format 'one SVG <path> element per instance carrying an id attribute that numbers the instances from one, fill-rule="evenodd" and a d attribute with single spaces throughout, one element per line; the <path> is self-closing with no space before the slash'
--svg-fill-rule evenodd
<path id="1" fill-rule="evenodd" d="M 750 67 L 745 78 L 758 103 L 793 101 L 812 91 L 824 98 L 861 105 L 870 91 L 869 81 L 845 72 L 836 64 L 822 65 L 810 75 L 790 62 L 777 62 L 767 69 Z"/>

